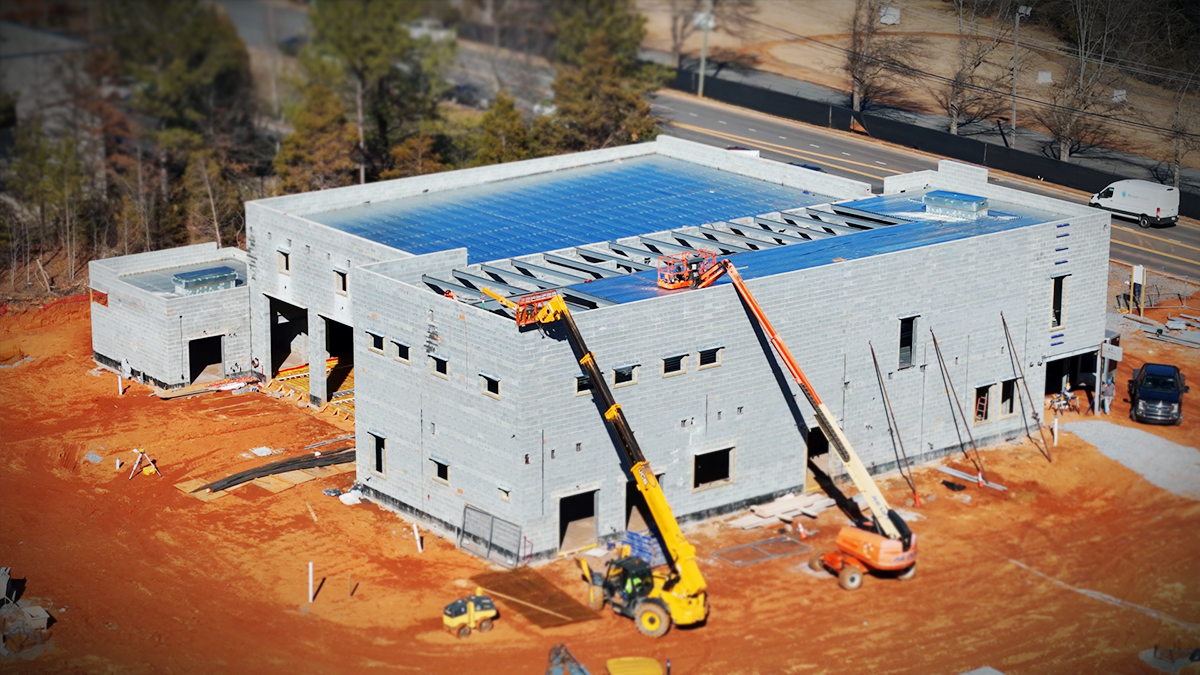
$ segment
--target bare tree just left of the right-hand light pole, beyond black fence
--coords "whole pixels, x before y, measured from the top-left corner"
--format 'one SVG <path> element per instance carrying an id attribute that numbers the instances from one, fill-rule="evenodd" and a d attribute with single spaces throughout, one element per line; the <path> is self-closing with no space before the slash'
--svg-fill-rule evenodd
<path id="1" fill-rule="evenodd" d="M 1001 94 L 1012 83 L 1012 70 L 994 60 L 996 49 L 1008 43 L 1013 29 L 1013 0 L 953 0 L 959 43 L 949 82 L 932 90 L 949 118 L 947 131 L 989 120 L 1004 112 Z"/>

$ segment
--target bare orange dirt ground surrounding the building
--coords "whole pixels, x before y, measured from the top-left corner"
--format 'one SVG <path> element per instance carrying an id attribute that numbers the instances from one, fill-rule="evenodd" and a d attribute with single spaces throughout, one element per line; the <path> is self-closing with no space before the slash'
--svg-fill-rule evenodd
<path id="1" fill-rule="evenodd" d="M 1200 503 L 1069 434 L 1052 462 L 1028 443 L 985 450 L 1007 492 L 955 495 L 943 474 L 917 471 L 937 498 L 912 509 L 925 519 L 913 524 L 922 552 L 910 583 L 870 578 L 848 593 L 804 572 L 806 556 L 736 568 L 709 554 L 775 532 L 710 521 L 689 527 L 707 626 L 652 640 L 606 614 L 541 629 L 502 601 L 494 631 L 458 640 L 442 631 L 442 608 L 487 566 L 427 531 L 418 554 L 396 514 L 322 495 L 353 473 L 212 502 L 173 486 L 260 464 L 242 456 L 257 446 L 294 456 L 344 435 L 344 422 L 262 394 L 162 401 L 136 386 L 118 398 L 112 374 L 90 374 L 88 322 L 85 303 L 0 317 L 6 348 L 34 357 L 0 370 L 0 563 L 56 621 L 49 649 L 0 659 L 0 671 L 540 674 L 566 643 L 593 674 L 614 656 L 670 658 L 676 674 L 1152 673 L 1142 650 L 1200 647 Z M 1200 384 L 1194 353 L 1144 342 L 1127 338 L 1120 386 L 1145 348 Z M 1132 424 L 1121 399 L 1110 419 Z M 1186 406 L 1184 426 L 1144 429 L 1195 446 L 1200 396 Z M 162 478 L 114 471 L 114 455 L 132 460 L 136 447 Z M 88 450 L 104 460 L 85 461 Z M 883 488 L 899 504 L 908 496 L 899 478 Z M 830 548 L 844 521 L 836 509 L 809 521 L 820 530 L 810 543 Z M 324 583 L 306 608 L 308 561 Z M 570 561 L 539 572 L 582 598 Z"/>

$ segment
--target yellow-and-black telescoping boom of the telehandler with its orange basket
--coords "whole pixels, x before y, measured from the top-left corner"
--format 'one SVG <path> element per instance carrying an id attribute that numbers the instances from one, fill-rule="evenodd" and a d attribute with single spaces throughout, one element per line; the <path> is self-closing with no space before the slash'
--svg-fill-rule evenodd
<path id="1" fill-rule="evenodd" d="M 683 530 L 676 520 L 674 512 L 671 510 L 671 506 L 662 494 L 662 488 L 659 485 L 654 470 L 650 468 L 650 462 L 642 454 L 642 448 L 637 444 L 637 438 L 634 437 L 634 432 L 630 430 L 624 411 L 620 410 L 620 405 L 613 399 L 612 392 L 608 389 L 608 383 L 604 377 L 604 371 L 596 365 L 595 356 L 588 350 L 583 335 L 580 334 L 580 329 L 575 324 L 575 318 L 566 307 L 566 301 L 556 291 L 532 293 L 518 298 L 516 303 L 490 288 L 482 288 L 482 292 L 512 310 L 516 313 L 518 327 L 554 322 L 562 322 L 565 327 L 568 339 L 572 348 L 577 352 L 580 368 L 587 374 L 592 383 L 592 392 L 600 400 L 605 420 L 617 435 L 622 453 L 624 453 L 625 461 L 629 464 L 629 473 L 637 485 L 637 490 L 646 498 L 646 506 L 649 508 L 650 516 L 654 519 L 654 524 L 662 536 L 667 556 L 672 563 L 672 574 L 668 578 L 654 578 L 654 589 L 647 598 L 652 602 L 644 604 L 665 607 L 671 621 L 680 626 L 698 623 L 707 619 L 707 585 L 704 575 L 701 574 L 700 566 L 696 563 L 696 546 L 684 537 Z M 662 634 L 670 627 L 662 626 L 661 633 L 659 633 L 656 626 L 653 628 L 643 626 L 643 623 L 653 622 L 654 616 L 658 616 L 656 614 L 654 616 L 643 616 L 643 614 L 653 613 L 653 607 L 647 607 L 644 613 L 632 611 L 634 608 L 630 609 L 630 617 L 637 621 L 638 628 L 647 634 Z"/>

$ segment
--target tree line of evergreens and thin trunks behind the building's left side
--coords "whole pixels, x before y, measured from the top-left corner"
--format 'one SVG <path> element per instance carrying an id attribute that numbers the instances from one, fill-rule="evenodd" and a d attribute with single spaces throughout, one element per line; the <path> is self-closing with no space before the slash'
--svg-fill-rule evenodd
<path id="1" fill-rule="evenodd" d="M 64 59 L 68 100 L 17 125 L 0 196 L 11 287 L 78 286 L 97 257 L 244 246 L 250 199 L 656 135 L 648 95 L 665 74 L 637 61 L 646 19 L 632 0 L 558 2 L 558 74 L 541 115 L 504 91 L 482 113 L 445 104 L 455 44 L 413 37 L 420 11 L 419 0 L 314 4 L 280 125 L 214 4 L 108 0 L 102 42 Z"/>

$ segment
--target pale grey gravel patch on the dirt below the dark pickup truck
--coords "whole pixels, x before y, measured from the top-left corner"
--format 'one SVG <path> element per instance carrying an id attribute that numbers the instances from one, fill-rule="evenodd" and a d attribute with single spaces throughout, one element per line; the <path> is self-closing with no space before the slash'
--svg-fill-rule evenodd
<path id="1" fill-rule="evenodd" d="M 1062 428 L 1154 485 L 1200 501 L 1200 450 L 1111 422 L 1073 422 Z"/>

